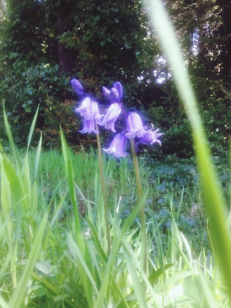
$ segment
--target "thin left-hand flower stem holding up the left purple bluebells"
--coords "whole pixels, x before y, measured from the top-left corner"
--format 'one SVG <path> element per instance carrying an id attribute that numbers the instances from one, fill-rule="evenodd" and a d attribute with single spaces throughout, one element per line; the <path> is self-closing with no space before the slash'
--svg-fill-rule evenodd
<path id="1" fill-rule="evenodd" d="M 95 128 L 99 131 L 99 125 L 95 122 Z M 98 146 L 98 159 L 99 159 L 99 171 L 100 171 L 100 180 L 101 187 L 103 193 L 103 202 L 104 202 L 104 213 L 105 213 L 105 221 L 106 221 L 106 232 L 107 232 L 107 241 L 108 241 L 108 255 L 111 251 L 111 234 L 110 234 L 110 224 L 108 219 L 108 204 L 107 204 L 107 196 L 106 196 L 106 188 L 104 181 L 104 172 L 103 172 L 103 160 L 102 160 L 102 151 L 101 151 L 101 142 L 99 132 L 96 134 L 97 146 Z"/>

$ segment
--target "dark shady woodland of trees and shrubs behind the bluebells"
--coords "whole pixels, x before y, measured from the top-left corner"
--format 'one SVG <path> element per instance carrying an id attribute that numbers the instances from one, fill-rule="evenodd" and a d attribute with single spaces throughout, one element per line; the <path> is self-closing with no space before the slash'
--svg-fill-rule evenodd
<path id="1" fill-rule="evenodd" d="M 165 0 L 214 155 L 227 153 L 231 135 L 231 1 Z M 163 25 L 164 27 L 164 25 Z M 102 108 L 102 86 L 124 87 L 123 103 L 163 135 L 152 156 L 193 155 L 187 116 L 171 69 L 140 0 L 0 0 L 0 110 L 4 100 L 14 140 L 26 145 L 38 104 L 34 142 L 60 147 L 59 123 L 77 149 L 95 144 L 78 132 L 77 78 Z M 119 128 L 119 127 L 118 127 Z M 104 137 L 108 138 L 104 132 Z M 110 136 L 109 136 L 110 137 Z M 3 112 L 0 142 L 6 145 Z"/>

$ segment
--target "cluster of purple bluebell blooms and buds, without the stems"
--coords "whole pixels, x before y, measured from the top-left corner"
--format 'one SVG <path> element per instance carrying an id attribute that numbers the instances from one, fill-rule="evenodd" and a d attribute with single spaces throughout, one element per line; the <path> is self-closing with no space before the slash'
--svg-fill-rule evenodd
<path id="1" fill-rule="evenodd" d="M 92 100 L 91 97 L 84 92 L 81 83 L 76 80 L 71 80 L 71 85 L 76 94 L 82 99 L 81 105 L 76 108 L 76 112 L 84 118 L 84 127 L 80 132 L 82 133 L 98 133 L 95 125 L 104 126 L 106 129 L 115 131 L 115 121 L 121 113 L 122 103 L 121 99 L 123 96 L 122 86 L 119 82 L 114 84 L 112 89 L 103 87 L 103 94 L 105 98 L 111 103 L 110 107 L 105 114 L 100 114 L 98 104 Z M 153 145 L 158 143 L 161 145 L 161 141 L 158 139 L 162 134 L 158 133 L 159 129 L 153 130 L 147 129 L 144 126 L 140 115 L 136 112 L 129 112 L 126 114 L 127 127 L 123 132 L 117 133 L 108 149 L 103 149 L 106 153 L 113 154 L 116 157 L 127 156 L 125 152 L 126 143 L 128 139 L 135 139 L 135 149 L 138 151 L 139 145 Z M 97 125 L 97 127 L 98 127 Z"/>

